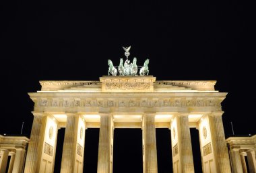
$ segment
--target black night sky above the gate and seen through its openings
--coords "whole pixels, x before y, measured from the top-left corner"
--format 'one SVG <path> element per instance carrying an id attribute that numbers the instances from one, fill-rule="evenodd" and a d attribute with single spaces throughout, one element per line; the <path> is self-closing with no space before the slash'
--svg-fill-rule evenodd
<path id="1" fill-rule="evenodd" d="M 255 55 L 249 14 L 234 1 L 6 1 L 1 7 L 0 134 L 30 136 L 39 80 L 99 80 L 122 46 L 156 80 L 217 80 L 226 137 L 256 133 Z M 255 21 L 255 19 L 254 19 Z M 252 22 L 254 22 L 252 21 Z M 65 129 L 59 130 L 60 164 Z M 195 172 L 198 132 L 191 129 Z M 171 172 L 170 131 L 157 129 L 158 172 Z M 141 129 L 116 129 L 114 172 L 142 172 Z M 85 171 L 96 172 L 98 129 L 86 131 Z M 129 166 L 129 164 L 133 166 Z M 56 168 L 55 172 L 59 172 Z"/>

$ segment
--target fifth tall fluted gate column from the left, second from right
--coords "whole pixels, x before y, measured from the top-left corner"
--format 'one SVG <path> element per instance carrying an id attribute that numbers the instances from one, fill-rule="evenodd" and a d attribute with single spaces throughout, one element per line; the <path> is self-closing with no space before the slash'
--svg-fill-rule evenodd
<path id="1" fill-rule="evenodd" d="M 189 115 L 177 115 L 177 132 L 179 143 L 179 156 L 181 162 L 181 172 L 193 173 L 194 162 L 192 153 L 191 136 L 189 129 Z"/>

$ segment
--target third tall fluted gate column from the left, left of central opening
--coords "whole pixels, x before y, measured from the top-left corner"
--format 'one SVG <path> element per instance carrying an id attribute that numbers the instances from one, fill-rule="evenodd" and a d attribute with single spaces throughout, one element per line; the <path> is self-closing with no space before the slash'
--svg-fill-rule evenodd
<path id="1" fill-rule="evenodd" d="M 100 115 L 100 139 L 98 143 L 98 173 L 111 173 L 111 121 L 110 114 Z"/>

